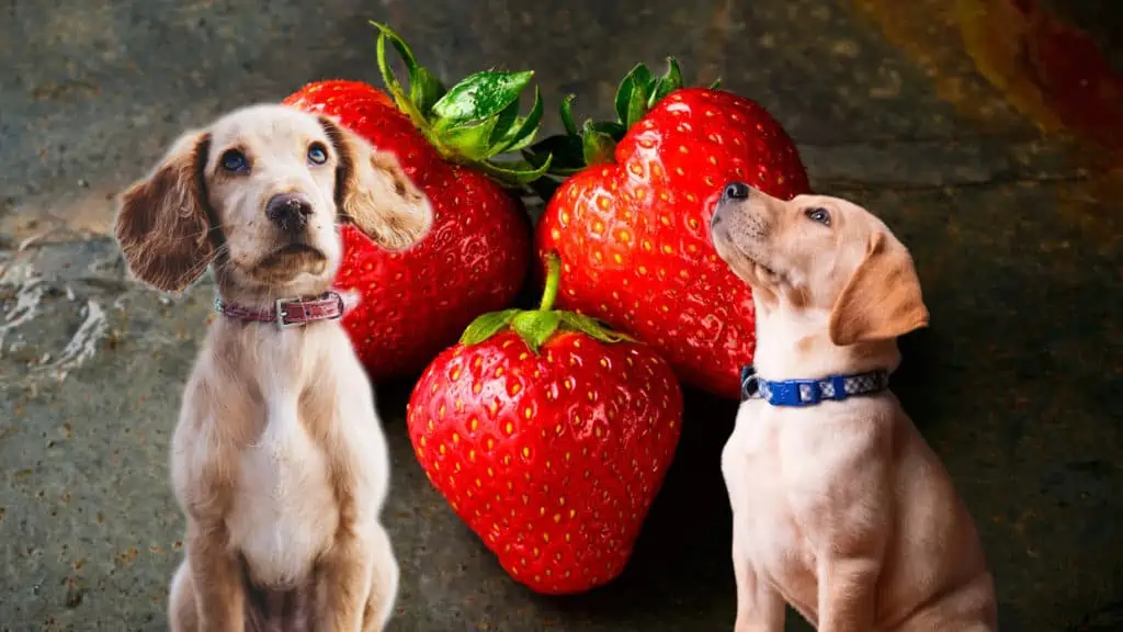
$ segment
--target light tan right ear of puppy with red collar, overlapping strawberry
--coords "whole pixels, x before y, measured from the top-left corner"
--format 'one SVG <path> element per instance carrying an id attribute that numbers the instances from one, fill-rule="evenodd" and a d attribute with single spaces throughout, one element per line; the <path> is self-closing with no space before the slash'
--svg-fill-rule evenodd
<path id="1" fill-rule="evenodd" d="M 375 150 L 326 117 L 320 125 L 339 154 L 339 211 L 387 250 L 407 249 L 423 237 L 432 226 L 432 207 L 394 154 Z"/>

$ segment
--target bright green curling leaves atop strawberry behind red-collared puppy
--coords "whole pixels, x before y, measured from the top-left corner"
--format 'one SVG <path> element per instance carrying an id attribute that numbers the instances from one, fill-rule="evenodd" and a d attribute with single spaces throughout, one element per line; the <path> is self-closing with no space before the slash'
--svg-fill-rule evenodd
<path id="1" fill-rule="evenodd" d="M 548 153 L 536 154 L 536 163 L 524 157 L 494 160 L 528 147 L 541 126 L 542 99 L 537 87 L 530 112 L 519 116 L 520 94 L 530 83 L 533 71 L 477 72 L 446 89 L 432 72 L 418 63 L 413 51 L 393 29 L 375 21 L 371 25 L 378 29 L 378 72 L 386 90 L 398 109 L 410 118 L 441 157 L 476 169 L 510 189 L 522 188 L 549 170 L 553 157 Z M 387 43 L 405 65 L 408 89 L 398 81 L 390 65 Z"/>

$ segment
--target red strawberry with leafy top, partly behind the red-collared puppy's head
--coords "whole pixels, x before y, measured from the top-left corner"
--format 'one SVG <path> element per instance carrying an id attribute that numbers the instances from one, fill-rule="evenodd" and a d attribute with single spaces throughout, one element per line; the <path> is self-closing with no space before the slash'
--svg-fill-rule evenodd
<path id="1" fill-rule="evenodd" d="M 354 226 L 343 229 L 336 283 L 362 295 L 344 325 L 380 379 L 421 370 L 473 318 L 510 305 L 530 261 L 530 227 L 504 187 L 521 187 L 544 170 L 493 160 L 528 145 L 539 127 L 537 91 L 530 114 L 519 116 L 531 72 L 482 72 L 446 90 L 396 34 L 376 26 L 378 66 L 393 101 L 366 83 L 322 81 L 284 102 L 334 116 L 396 154 L 432 204 L 432 229 L 404 252 L 377 247 Z M 387 63 L 387 40 L 409 71 L 408 93 Z"/>

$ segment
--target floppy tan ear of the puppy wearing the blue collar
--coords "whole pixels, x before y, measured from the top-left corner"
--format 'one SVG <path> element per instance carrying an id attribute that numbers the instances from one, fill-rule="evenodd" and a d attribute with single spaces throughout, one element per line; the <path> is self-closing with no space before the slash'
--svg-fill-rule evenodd
<path id="1" fill-rule="evenodd" d="M 885 233 L 874 233 L 865 259 L 831 309 L 831 342 L 846 346 L 894 338 L 928 326 L 928 320 L 909 251 Z"/>

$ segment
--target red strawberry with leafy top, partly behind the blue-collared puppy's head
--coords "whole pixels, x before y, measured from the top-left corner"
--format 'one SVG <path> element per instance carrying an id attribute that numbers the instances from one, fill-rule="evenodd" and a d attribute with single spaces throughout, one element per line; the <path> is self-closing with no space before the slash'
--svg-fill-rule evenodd
<path id="1" fill-rule="evenodd" d="M 751 294 L 718 258 L 710 217 L 732 180 L 784 199 L 810 186 L 795 145 L 759 105 L 712 88 L 682 88 L 669 60 L 620 85 L 619 120 L 586 121 L 531 151 L 572 175 L 538 225 L 539 254 L 562 256 L 558 305 L 651 344 L 683 381 L 737 397 L 756 334 Z M 531 157 L 533 157 L 531 153 Z"/>

